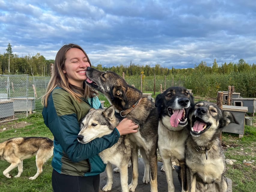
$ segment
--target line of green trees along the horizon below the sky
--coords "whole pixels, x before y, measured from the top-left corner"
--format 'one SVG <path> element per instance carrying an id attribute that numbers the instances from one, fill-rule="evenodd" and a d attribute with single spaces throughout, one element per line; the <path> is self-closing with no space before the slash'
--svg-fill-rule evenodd
<path id="1" fill-rule="evenodd" d="M 54 63 L 53 59 L 47 60 L 43 55 L 37 53 L 36 55 L 22 55 L 21 57 L 17 54 L 12 53 L 11 44 L 8 44 L 6 49 L 7 52 L 0 53 L 0 74 L 28 74 L 29 76 L 50 76 L 50 64 Z M 99 70 L 111 70 L 113 72 L 125 76 L 140 75 L 142 72 L 145 76 L 163 75 L 163 76 L 175 76 L 185 75 L 189 76 L 194 73 L 204 74 L 230 74 L 233 72 L 244 73 L 251 70 L 256 70 L 256 65 L 248 64 L 244 59 L 239 59 L 237 63 L 222 63 L 218 65 L 216 59 L 212 64 L 206 64 L 205 61 L 201 61 L 200 64 L 195 64 L 194 68 L 175 69 L 161 67 L 160 64 L 156 64 L 154 67 L 150 65 L 135 65 L 134 63 L 124 65 L 119 64 L 118 66 L 102 67 L 102 64 L 98 64 L 96 67 Z"/>

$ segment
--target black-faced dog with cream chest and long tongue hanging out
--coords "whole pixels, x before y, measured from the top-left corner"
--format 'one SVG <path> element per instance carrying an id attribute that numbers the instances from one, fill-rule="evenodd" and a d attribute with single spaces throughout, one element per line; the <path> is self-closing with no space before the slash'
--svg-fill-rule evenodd
<path id="1" fill-rule="evenodd" d="M 185 87 L 170 87 L 157 95 L 155 106 L 160 117 L 158 123 L 158 150 L 163 160 L 168 192 L 174 192 L 172 159 L 181 167 L 182 191 L 187 191 L 185 141 L 188 137 L 188 110 L 193 96 Z"/>

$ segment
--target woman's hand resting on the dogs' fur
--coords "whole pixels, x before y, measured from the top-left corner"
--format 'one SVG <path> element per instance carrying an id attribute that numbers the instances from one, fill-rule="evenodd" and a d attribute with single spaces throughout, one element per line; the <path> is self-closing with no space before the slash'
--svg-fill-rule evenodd
<path id="1" fill-rule="evenodd" d="M 117 126 L 120 135 L 136 133 L 139 126 L 136 125 L 131 119 L 124 118 Z"/>

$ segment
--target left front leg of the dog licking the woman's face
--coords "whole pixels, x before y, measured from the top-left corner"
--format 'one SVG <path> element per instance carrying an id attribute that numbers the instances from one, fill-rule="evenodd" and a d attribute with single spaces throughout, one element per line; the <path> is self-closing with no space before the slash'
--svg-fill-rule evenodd
<path id="1" fill-rule="evenodd" d="M 138 185 L 138 146 L 136 143 L 131 143 L 131 165 L 132 165 L 132 180 L 128 185 L 128 188 L 131 192 L 134 192 Z"/>

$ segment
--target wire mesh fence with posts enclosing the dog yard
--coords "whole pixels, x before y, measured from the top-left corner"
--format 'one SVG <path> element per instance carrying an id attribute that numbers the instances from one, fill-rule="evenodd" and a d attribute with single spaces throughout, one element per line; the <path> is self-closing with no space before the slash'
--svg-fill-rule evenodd
<path id="1" fill-rule="evenodd" d="M 180 81 L 125 79 L 129 85 L 142 92 L 159 92 L 170 86 L 182 86 Z M 45 94 L 50 77 L 28 75 L 0 75 L 0 123 L 28 117 L 32 113 L 41 113 L 41 98 Z M 102 95 L 102 94 L 101 94 Z M 103 96 L 104 97 L 104 96 Z M 101 96 L 102 98 L 102 96 Z"/>

